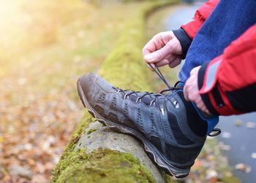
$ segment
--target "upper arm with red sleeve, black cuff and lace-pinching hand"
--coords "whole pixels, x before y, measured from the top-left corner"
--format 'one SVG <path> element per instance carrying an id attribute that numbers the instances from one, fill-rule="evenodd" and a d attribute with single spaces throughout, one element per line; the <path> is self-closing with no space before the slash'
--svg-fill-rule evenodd
<path id="1" fill-rule="evenodd" d="M 171 68 L 178 66 L 181 59 L 186 58 L 192 39 L 218 2 L 219 0 L 206 2 L 197 9 L 192 22 L 177 30 L 162 32 L 154 36 L 143 47 L 143 58 L 146 63 L 154 63 L 155 66 L 169 65 Z"/>

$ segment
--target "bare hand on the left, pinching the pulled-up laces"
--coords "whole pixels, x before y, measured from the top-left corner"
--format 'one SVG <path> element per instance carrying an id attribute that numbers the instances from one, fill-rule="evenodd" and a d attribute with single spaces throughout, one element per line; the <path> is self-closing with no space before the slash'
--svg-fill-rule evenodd
<path id="1" fill-rule="evenodd" d="M 169 65 L 170 68 L 173 68 L 181 63 L 181 43 L 173 31 L 162 32 L 154 36 L 143 47 L 142 52 L 146 63 L 152 66 Z M 149 67 L 149 69 L 151 68 Z"/>

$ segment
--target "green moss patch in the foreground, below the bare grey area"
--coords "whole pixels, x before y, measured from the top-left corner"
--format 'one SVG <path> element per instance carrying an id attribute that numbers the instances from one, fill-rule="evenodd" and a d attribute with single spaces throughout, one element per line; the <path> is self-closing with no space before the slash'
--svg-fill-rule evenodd
<path id="1" fill-rule="evenodd" d="M 74 158 L 75 157 L 75 158 Z M 138 159 L 127 153 L 98 149 L 86 154 L 72 152 L 62 162 L 63 174 L 56 182 L 154 182 Z"/>

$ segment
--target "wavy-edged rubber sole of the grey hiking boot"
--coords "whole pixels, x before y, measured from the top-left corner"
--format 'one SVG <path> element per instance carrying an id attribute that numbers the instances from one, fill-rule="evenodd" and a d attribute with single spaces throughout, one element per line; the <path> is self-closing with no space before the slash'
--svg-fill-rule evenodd
<path id="1" fill-rule="evenodd" d="M 118 133 L 125 133 L 127 135 L 134 136 L 136 139 L 139 139 L 143 143 L 143 149 L 147 153 L 148 157 L 150 157 L 151 160 L 153 160 L 154 163 L 157 164 L 157 166 L 162 168 L 162 170 L 165 171 L 166 174 L 170 176 L 175 176 L 176 178 L 184 178 L 189 174 L 189 169 L 176 168 L 175 166 L 168 163 L 168 161 L 162 155 L 162 153 L 159 152 L 157 148 L 154 147 L 153 144 L 151 144 L 150 141 L 148 141 L 145 137 L 143 137 L 137 131 L 127 126 L 119 125 L 117 123 L 111 122 L 110 120 L 107 120 L 105 119 L 105 117 L 102 117 L 100 114 L 98 114 L 97 111 L 95 111 L 87 101 L 86 96 L 83 93 L 83 89 L 80 85 L 80 79 L 78 79 L 77 87 L 78 87 L 78 95 L 80 97 L 80 100 L 82 101 L 83 106 L 88 110 L 88 112 L 94 118 L 99 120 L 99 122 L 101 122 L 102 125 L 106 125 L 109 128 L 111 128 L 113 131 L 117 131 Z"/>

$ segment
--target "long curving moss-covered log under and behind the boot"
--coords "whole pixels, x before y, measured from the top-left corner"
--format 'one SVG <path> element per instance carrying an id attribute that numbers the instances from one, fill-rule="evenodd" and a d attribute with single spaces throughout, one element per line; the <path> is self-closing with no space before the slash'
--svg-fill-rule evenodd
<path id="1" fill-rule="evenodd" d="M 141 57 L 146 39 L 145 19 L 154 9 L 175 2 L 140 4 L 99 74 L 117 87 L 151 91 L 151 74 Z M 138 140 L 103 127 L 85 112 L 53 170 L 51 182 L 166 182 L 166 179 Z"/>

